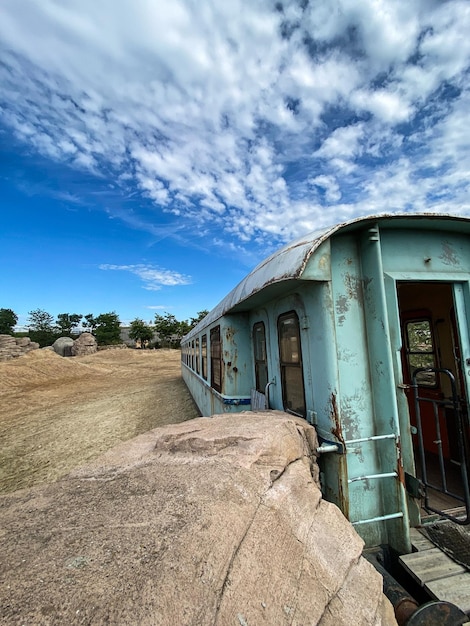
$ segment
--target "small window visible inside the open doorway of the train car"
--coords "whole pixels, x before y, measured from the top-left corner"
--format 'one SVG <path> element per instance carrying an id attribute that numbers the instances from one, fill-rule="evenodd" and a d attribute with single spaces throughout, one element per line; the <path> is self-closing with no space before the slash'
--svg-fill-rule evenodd
<path id="1" fill-rule="evenodd" d="M 406 322 L 406 357 L 410 377 L 421 367 L 436 367 L 436 351 L 432 334 L 431 321 L 419 319 Z M 416 381 L 424 387 L 435 387 L 435 372 L 421 372 Z"/>

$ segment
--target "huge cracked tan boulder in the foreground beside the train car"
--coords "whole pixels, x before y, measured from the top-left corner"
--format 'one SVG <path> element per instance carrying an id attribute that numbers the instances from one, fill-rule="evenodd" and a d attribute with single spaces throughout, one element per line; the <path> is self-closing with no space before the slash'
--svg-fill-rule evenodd
<path id="1" fill-rule="evenodd" d="M 284 413 L 199 418 L 3 496 L 0 621 L 396 624 L 315 446 Z"/>

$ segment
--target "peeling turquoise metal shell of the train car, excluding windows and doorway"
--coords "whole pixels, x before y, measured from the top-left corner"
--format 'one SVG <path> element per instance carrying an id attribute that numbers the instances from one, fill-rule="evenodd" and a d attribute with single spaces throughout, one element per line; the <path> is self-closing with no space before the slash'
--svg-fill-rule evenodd
<path id="1" fill-rule="evenodd" d="M 405 489 L 405 470 L 412 476 L 415 467 L 409 407 L 397 392 L 403 382 L 399 287 L 445 281 L 455 291 L 460 281 L 462 295 L 454 300 L 465 326 L 468 234 L 470 219 L 430 214 L 371 216 L 310 233 L 258 265 L 185 338 L 220 324 L 222 391 L 229 399 L 247 397 L 255 385 L 253 323 L 265 324 L 269 379 L 281 381 L 278 319 L 296 313 L 305 416 L 334 451 L 322 455 L 324 491 L 367 545 L 407 552 L 410 508 L 419 522 Z M 463 335 L 462 345 L 470 345 Z M 470 368 L 464 375 L 470 380 Z M 270 391 L 272 408 L 282 409 L 280 382 Z M 216 409 L 223 399 L 214 398 Z"/>

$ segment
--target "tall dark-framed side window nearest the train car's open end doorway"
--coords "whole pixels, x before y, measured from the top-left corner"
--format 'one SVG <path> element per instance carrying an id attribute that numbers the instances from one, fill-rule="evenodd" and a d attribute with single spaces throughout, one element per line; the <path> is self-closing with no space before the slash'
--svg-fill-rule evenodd
<path id="1" fill-rule="evenodd" d="M 300 328 L 296 313 L 286 313 L 279 317 L 278 333 L 284 409 L 305 417 Z"/>

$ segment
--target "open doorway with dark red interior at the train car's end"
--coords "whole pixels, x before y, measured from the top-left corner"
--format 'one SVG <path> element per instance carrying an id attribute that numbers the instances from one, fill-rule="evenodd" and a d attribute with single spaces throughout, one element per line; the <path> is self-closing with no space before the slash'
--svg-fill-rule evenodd
<path id="1" fill-rule="evenodd" d="M 470 351 L 467 331 L 460 326 L 466 320 L 457 293 L 452 283 L 398 283 L 403 382 L 416 469 L 415 477 L 407 477 L 407 488 L 421 499 L 425 512 L 469 523 L 464 367 Z"/>

